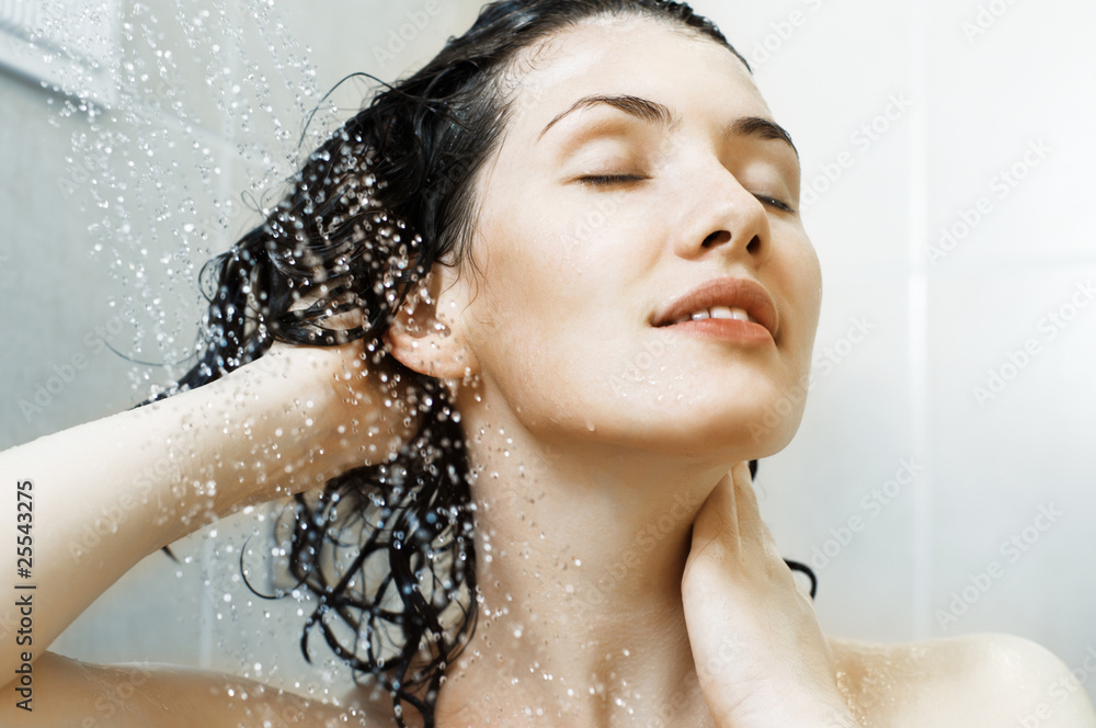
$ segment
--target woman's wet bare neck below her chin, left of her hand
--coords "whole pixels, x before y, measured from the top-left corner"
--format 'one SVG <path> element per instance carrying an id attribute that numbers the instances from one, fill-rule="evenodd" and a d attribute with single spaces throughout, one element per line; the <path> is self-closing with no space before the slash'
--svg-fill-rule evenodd
<path id="1" fill-rule="evenodd" d="M 681 580 L 727 464 L 480 432 L 492 434 L 468 445 L 482 601 L 438 726 L 711 725 Z"/>

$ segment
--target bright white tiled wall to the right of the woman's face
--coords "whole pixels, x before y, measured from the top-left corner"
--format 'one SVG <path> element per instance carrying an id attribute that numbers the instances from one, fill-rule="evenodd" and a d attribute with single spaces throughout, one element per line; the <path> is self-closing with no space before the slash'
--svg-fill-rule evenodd
<path id="1" fill-rule="evenodd" d="M 697 5 L 802 156 L 822 322 L 800 433 L 758 485 L 823 625 L 1019 634 L 1096 693 L 1096 9 Z"/>

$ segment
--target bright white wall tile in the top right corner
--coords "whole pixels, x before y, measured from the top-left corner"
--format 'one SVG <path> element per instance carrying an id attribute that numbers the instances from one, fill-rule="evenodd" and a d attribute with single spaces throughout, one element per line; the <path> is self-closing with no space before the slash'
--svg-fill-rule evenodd
<path id="1" fill-rule="evenodd" d="M 1005 10 L 980 18 L 990 5 Z M 970 31 L 978 21 L 984 34 Z M 1083 80 L 1096 72 L 1094 25 L 1096 8 L 1071 0 L 934 3 L 928 244 L 941 228 L 964 234 L 978 201 L 990 211 L 938 265 L 1096 252 L 1077 234 L 1087 228 L 1081 201 L 1096 193 L 1096 87 Z M 1043 151 L 1031 153 L 1040 141 Z"/>

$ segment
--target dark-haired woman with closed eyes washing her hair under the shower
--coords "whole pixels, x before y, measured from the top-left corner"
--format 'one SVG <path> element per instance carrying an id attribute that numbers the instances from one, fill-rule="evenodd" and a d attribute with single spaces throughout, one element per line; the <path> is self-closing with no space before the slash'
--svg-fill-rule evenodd
<path id="1" fill-rule="evenodd" d="M 126 685 L 100 725 L 1096 725 L 1024 640 L 822 635 L 746 467 L 801 416 L 763 419 L 818 323 L 798 194 L 790 137 L 687 8 L 489 5 L 221 261 L 184 391 L 2 456 L 35 589 L 0 715 L 88 725 Z M 145 555 L 290 492 L 306 632 L 390 699 L 43 653 Z M 75 567 L 66 534 L 112 505 Z"/>

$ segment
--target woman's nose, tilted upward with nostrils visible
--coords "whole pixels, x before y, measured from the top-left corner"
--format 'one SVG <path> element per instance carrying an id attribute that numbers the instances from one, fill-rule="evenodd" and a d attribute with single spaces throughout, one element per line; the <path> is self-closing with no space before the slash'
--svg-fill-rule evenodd
<path id="1" fill-rule="evenodd" d="M 675 252 L 686 259 L 718 254 L 757 266 L 768 259 L 772 232 L 764 204 L 722 164 L 690 178 L 692 204 L 678 226 Z"/>

